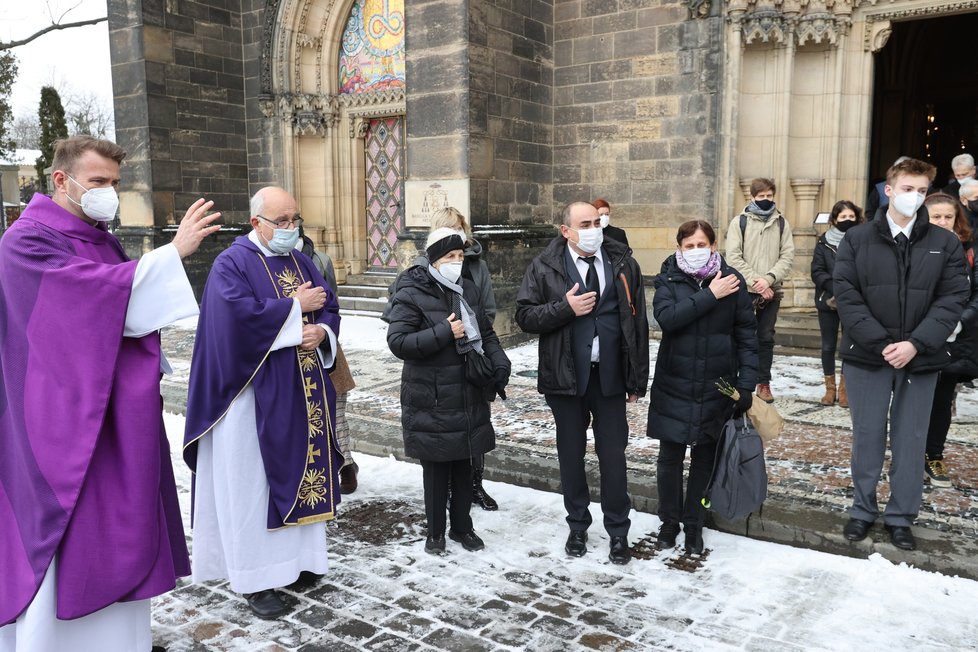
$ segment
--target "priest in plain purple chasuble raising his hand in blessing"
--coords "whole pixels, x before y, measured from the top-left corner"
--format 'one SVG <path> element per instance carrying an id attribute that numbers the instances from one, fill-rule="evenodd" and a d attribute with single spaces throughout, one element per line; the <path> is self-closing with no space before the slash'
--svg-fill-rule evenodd
<path id="1" fill-rule="evenodd" d="M 0 651 L 152 646 L 190 572 L 163 429 L 159 329 L 197 314 L 181 259 L 212 202 L 129 260 L 106 224 L 126 153 L 59 141 L 51 198 L 0 239 Z"/>

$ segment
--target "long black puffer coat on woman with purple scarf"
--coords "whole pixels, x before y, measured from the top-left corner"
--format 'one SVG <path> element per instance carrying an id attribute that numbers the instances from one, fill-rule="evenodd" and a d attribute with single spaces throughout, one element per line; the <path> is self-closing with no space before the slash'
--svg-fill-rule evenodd
<path id="1" fill-rule="evenodd" d="M 662 263 L 655 278 L 652 314 L 662 328 L 649 393 L 648 436 L 694 444 L 720 435 L 734 402 L 717 389 L 725 380 L 743 393 L 757 384 L 757 322 L 747 283 L 725 262 L 720 273 L 740 279 L 740 289 L 720 300 L 676 264 Z M 715 278 L 715 277 L 714 277 Z"/>

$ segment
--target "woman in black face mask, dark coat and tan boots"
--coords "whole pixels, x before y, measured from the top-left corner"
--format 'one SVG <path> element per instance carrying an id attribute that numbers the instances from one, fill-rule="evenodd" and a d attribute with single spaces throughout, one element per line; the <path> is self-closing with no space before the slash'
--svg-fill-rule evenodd
<path id="1" fill-rule="evenodd" d="M 822 375 L 825 376 L 825 396 L 819 400 L 822 405 L 833 405 L 838 396 L 839 407 L 849 407 L 845 376 L 839 379 L 836 394 L 835 351 L 839 340 L 839 313 L 832 291 L 832 270 L 835 269 L 835 252 L 846 231 L 862 222 L 861 208 L 845 199 L 837 201 L 829 214 L 829 230 L 818 239 L 812 252 L 812 283 L 815 284 L 818 329 L 822 334 Z"/>

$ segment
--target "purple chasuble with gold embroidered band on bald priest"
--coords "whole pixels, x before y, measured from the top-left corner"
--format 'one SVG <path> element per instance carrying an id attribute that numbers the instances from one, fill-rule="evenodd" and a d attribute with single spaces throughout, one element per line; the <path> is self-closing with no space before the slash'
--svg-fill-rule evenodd
<path id="1" fill-rule="evenodd" d="M 298 252 L 265 256 L 246 236 L 215 260 L 204 286 L 190 365 L 184 459 L 197 469 L 197 441 L 251 383 L 265 476 L 268 529 L 333 518 L 343 456 L 333 433 L 336 392 L 315 351 L 271 351 L 296 289 L 312 281 L 326 305 L 303 315 L 339 336 L 339 304 L 312 261 Z M 328 345 L 328 338 L 323 345 Z"/>

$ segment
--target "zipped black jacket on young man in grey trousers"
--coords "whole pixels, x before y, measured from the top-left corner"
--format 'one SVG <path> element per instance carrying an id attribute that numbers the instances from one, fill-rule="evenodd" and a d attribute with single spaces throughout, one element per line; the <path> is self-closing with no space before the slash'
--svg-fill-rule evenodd
<path id="1" fill-rule="evenodd" d="M 909 341 L 917 355 L 907 371 L 933 372 L 950 362 L 946 340 L 961 317 L 970 283 L 961 243 L 928 220 L 921 208 L 906 259 L 885 217 L 846 232 L 833 274 L 843 361 L 882 367 L 884 348 Z"/>

